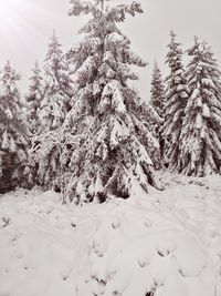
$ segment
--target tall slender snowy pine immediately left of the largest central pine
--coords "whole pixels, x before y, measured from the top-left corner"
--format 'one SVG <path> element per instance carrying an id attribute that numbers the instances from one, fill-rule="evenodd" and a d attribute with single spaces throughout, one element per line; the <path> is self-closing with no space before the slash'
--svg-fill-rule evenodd
<path id="1" fill-rule="evenodd" d="M 39 118 L 41 126 L 33 139 L 32 156 L 38 164 L 39 182 L 45 188 L 60 187 L 61 126 L 72 105 L 71 70 L 55 32 L 50 39 L 44 65 L 45 91 Z"/>

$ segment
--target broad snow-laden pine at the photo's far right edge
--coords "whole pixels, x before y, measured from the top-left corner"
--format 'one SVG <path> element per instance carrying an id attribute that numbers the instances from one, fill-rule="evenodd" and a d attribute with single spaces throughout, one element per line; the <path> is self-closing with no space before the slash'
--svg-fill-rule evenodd
<path id="1" fill-rule="evenodd" d="M 221 172 L 221 81 L 211 49 L 196 38 L 188 51 L 191 90 L 180 136 L 178 167 L 188 175 Z"/>

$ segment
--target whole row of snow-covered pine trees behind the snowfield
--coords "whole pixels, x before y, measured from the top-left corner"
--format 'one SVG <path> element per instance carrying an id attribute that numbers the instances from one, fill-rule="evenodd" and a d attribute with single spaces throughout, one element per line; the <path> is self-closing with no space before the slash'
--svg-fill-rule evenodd
<path id="1" fill-rule="evenodd" d="M 155 63 L 141 100 L 128 83 L 146 67 L 118 23 L 141 6 L 71 0 L 88 14 L 82 41 L 63 51 L 55 32 L 29 91 L 7 62 L 0 76 L 0 192 L 17 186 L 62 192 L 63 202 L 128 197 L 134 184 L 162 190 L 156 170 L 221 173 L 221 73 L 211 48 L 194 38 L 185 51 L 170 33 L 164 78 Z M 188 64 L 183 65 L 183 54 Z"/>

